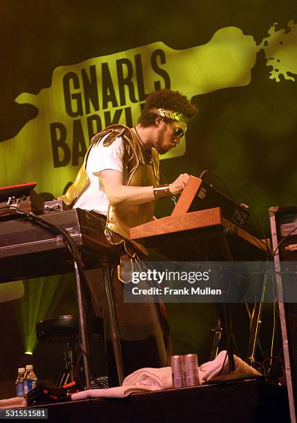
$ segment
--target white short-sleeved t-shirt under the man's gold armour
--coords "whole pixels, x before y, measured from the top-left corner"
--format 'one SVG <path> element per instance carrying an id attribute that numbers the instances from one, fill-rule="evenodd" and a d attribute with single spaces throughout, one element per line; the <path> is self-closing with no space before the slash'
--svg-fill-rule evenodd
<path id="1" fill-rule="evenodd" d="M 90 185 L 77 199 L 73 208 L 93 210 L 94 212 L 107 215 L 108 197 L 105 194 L 100 171 L 112 169 L 123 171 L 123 145 L 122 138 L 117 137 L 108 147 L 104 147 L 102 141 L 90 150 L 86 162 L 86 173 L 90 179 Z"/>

